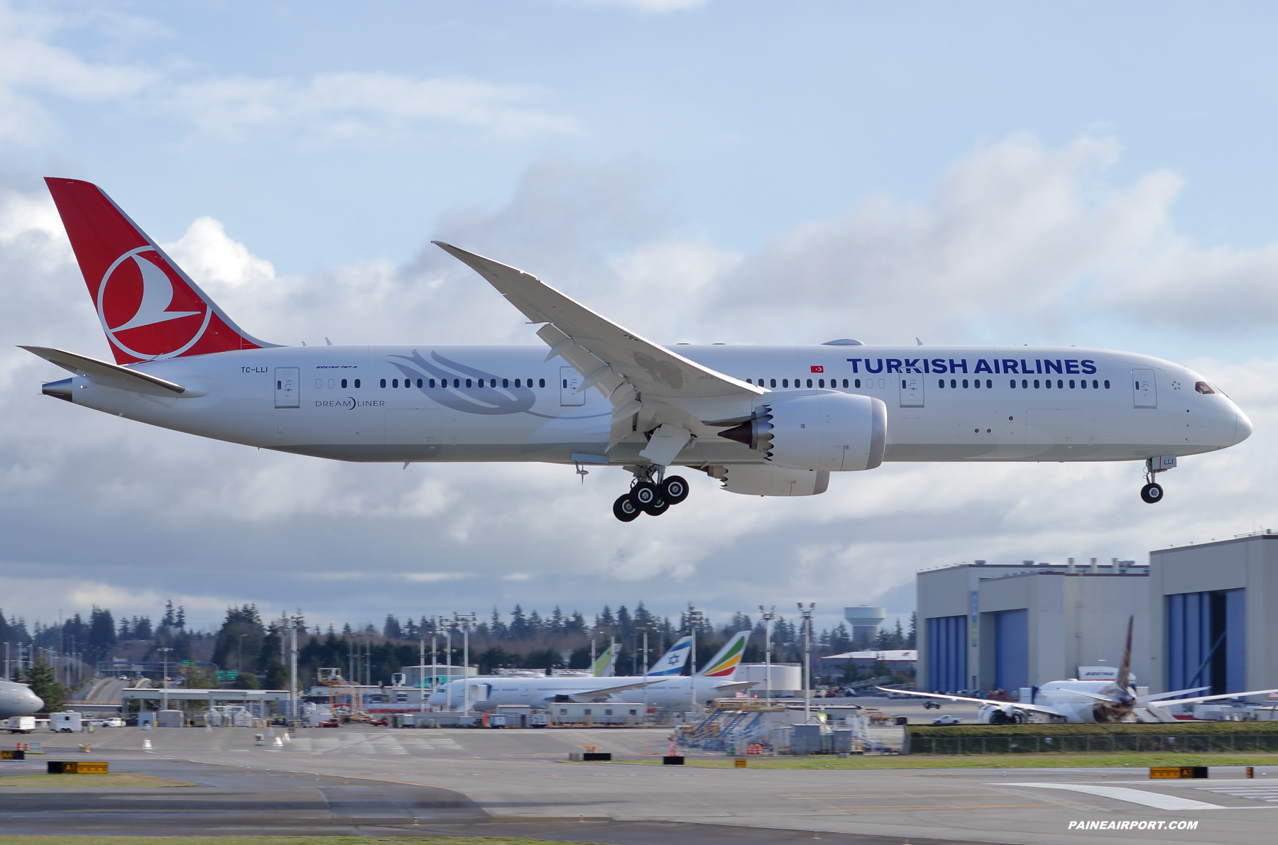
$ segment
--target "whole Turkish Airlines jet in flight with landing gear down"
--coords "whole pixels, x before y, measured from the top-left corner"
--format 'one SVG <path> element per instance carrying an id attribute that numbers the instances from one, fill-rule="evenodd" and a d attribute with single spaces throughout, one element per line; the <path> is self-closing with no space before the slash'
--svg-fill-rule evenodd
<path id="1" fill-rule="evenodd" d="M 688 497 L 814 495 L 884 461 L 1144 461 L 1251 422 L 1204 377 L 1134 352 L 1026 346 L 662 346 L 533 276 L 438 246 L 543 346 L 295 347 L 240 329 L 96 185 L 47 179 L 115 363 L 24 346 L 74 374 L 49 396 L 199 437 L 336 461 L 621 466 L 622 522 Z M 548 347 L 548 350 L 547 350 Z"/>

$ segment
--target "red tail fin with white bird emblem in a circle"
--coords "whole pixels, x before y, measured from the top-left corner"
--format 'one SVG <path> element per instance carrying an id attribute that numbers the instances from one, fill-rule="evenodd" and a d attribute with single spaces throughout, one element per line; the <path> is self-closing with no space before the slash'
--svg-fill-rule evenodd
<path id="1" fill-rule="evenodd" d="M 235 325 L 101 188 L 45 183 L 116 364 L 276 346 Z"/>

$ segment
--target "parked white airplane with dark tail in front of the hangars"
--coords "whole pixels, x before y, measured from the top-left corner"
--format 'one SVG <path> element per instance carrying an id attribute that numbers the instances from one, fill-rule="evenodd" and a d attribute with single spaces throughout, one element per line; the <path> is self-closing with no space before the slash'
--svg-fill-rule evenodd
<path id="1" fill-rule="evenodd" d="M 1025 721 L 1030 714 L 1057 716 L 1068 722 L 1176 721 L 1164 710 L 1168 705 L 1192 705 L 1204 701 L 1246 698 L 1249 696 L 1266 696 L 1278 692 L 1278 689 L 1252 689 L 1219 696 L 1177 698 L 1177 696 L 1209 689 L 1209 687 L 1194 687 L 1192 689 L 1174 689 L 1151 696 L 1140 696 L 1132 685 L 1135 675 L 1131 674 L 1131 629 L 1134 620 L 1134 617 L 1127 619 L 1127 646 L 1123 648 L 1118 677 L 1114 680 L 1079 680 L 1076 678 L 1071 678 L 1070 680 L 1052 680 L 1035 689 L 1033 692 L 1033 701 L 1025 703 L 970 698 L 966 696 L 947 696 L 934 692 L 888 689 L 886 687 L 879 687 L 879 689 L 924 698 L 944 698 L 947 701 L 979 703 L 982 707 L 976 714 L 978 721 L 992 725 Z"/>

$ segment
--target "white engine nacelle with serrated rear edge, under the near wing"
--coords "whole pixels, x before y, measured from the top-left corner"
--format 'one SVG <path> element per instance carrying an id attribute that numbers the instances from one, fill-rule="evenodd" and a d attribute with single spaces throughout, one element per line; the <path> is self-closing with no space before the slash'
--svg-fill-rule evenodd
<path id="1" fill-rule="evenodd" d="M 883 462 L 887 406 L 881 400 L 813 391 L 769 400 L 754 417 L 720 437 L 796 470 L 873 470 Z"/>

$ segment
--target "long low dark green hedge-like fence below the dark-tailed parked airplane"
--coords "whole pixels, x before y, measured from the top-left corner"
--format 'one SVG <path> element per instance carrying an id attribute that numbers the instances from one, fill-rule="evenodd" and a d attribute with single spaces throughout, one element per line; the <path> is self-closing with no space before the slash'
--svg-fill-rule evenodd
<path id="1" fill-rule="evenodd" d="M 915 754 L 1104 754 L 1132 752 L 1273 753 L 1278 734 L 1065 734 L 1058 737 L 910 737 Z"/>

